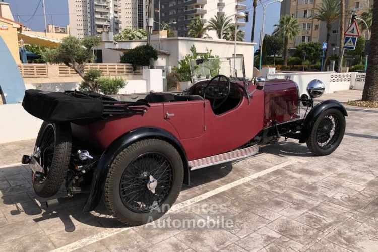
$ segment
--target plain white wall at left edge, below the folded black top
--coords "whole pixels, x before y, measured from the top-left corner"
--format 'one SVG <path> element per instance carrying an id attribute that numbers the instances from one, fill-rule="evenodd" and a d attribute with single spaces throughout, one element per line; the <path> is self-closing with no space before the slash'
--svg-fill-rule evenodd
<path id="1" fill-rule="evenodd" d="M 36 138 L 42 120 L 24 110 L 21 104 L 0 106 L 0 143 Z"/>

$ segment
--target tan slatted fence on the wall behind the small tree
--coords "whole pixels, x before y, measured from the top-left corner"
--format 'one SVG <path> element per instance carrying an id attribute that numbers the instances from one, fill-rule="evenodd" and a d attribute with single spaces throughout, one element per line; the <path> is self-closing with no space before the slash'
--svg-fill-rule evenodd
<path id="1" fill-rule="evenodd" d="M 133 66 L 131 64 L 125 63 L 114 63 L 114 64 L 85 64 L 84 72 L 86 73 L 89 69 L 101 70 L 103 75 L 134 75 L 142 74 L 142 67 L 137 66 L 136 70 L 133 71 Z M 69 68 L 66 65 L 59 65 L 59 76 L 76 76 L 78 75 L 75 70 Z"/>

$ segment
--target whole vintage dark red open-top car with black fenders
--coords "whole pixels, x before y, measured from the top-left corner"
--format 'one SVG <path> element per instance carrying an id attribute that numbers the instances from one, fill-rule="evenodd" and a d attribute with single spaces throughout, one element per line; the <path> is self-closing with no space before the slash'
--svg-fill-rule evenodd
<path id="1" fill-rule="evenodd" d="M 280 137 L 298 139 L 317 156 L 331 154 L 347 112 L 335 100 L 316 106 L 321 81 L 299 94 L 291 80 L 247 80 L 241 58 L 191 61 L 194 85 L 122 102 L 96 93 L 28 90 L 24 108 L 45 120 L 30 163 L 35 192 L 88 192 L 84 211 L 104 196 L 124 223 L 157 219 L 192 170 L 253 156 Z M 140 99 L 143 98 L 143 99 Z"/>

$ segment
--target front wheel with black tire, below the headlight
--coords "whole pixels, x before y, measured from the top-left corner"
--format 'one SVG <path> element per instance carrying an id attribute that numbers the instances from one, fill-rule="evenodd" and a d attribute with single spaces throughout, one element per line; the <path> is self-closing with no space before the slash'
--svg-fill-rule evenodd
<path id="1" fill-rule="evenodd" d="M 344 115 L 338 109 L 328 109 L 316 119 L 307 140 L 307 147 L 316 156 L 329 155 L 340 145 L 344 133 Z"/>

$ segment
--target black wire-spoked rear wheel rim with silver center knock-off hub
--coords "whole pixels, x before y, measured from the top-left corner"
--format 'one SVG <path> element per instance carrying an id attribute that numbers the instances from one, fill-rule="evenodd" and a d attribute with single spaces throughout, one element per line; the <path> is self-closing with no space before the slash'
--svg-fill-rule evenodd
<path id="1" fill-rule="evenodd" d="M 133 212 L 145 213 L 159 207 L 173 183 L 172 164 L 158 152 L 134 159 L 124 170 L 119 185 L 123 204 Z"/>

